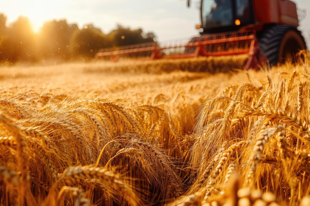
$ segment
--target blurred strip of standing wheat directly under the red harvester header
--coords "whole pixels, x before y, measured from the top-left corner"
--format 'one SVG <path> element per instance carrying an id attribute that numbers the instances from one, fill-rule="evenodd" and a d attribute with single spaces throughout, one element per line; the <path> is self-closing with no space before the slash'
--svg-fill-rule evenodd
<path id="1" fill-rule="evenodd" d="M 216 72 L 230 72 L 234 69 L 243 68 L 248 59 L 248 54 L 234 56 L 218 56 L 218 57 L 198 57 L 185 59 L 159 59 L 135 61 L 123 60 L 119 62 L 107 62 L 105 66 L 102 64 L 94 64 L 92 67 L 85 67 L 87 73 L 101 72 L 124 72 L 124 73 L 147 73 L 162 74 L 175 71 L 188 72 L 207 72 L 214 74 Z"/>

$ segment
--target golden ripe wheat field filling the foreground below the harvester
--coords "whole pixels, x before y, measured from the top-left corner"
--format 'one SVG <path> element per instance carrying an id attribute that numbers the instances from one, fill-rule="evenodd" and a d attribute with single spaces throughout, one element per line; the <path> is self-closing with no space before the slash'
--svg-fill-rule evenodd
<path id="1" fill-rule="evenodd" d="M 0 204 L 307 206 L 301 55 L 0 67 Z"/>

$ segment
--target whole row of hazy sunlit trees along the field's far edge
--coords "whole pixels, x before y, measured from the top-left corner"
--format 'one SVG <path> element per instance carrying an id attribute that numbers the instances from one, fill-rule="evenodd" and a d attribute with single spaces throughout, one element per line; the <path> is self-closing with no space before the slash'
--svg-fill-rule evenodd
<path id="1" fill-rule="evenodd" d="M 65 19 L 45 22 L 35 33 L 27 17 L 20 16 L 7 26 L 6 16 L 0 14 L 1 63 L 89 60 L 101 48 L 154 41 L 155 34 L 141 28 L 132 30 L 118 24 L 104 34 L 92 24 L 79 29 Z"/>

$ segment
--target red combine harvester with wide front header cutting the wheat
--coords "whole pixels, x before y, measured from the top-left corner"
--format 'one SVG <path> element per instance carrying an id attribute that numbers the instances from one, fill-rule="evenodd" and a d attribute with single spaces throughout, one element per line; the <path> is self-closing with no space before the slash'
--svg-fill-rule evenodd
<path id="1" fill-rule="evenodd" d="M 190 0 L 188 0 L 190 6 Z M 149 54 L 152 59 L 249 54 L 245 69 L 294 61 L 307 49 L 291 0 L 201 0 L 200 37 L 101 49 L 97 57 Z"/>

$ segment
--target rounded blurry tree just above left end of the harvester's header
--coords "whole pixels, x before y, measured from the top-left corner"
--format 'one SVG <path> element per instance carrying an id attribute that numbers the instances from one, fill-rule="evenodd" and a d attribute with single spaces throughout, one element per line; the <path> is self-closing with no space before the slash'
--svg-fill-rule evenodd
<path id="1" fill-rule="evenodd" d="M 92 24 L 85 25 L 82 30 L 74 33 L 70 47 L 76 57 L 93 58 L 101 48 L 112 46 L 108 37 Z"/>

